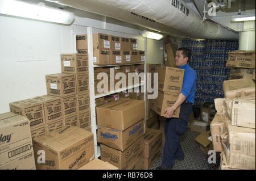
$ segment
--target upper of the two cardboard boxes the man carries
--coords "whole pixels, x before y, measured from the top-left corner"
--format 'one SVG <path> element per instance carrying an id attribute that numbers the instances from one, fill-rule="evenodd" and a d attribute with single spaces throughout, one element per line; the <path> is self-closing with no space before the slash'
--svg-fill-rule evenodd
<path id="1" fill-rule="evenodd" d="M 158 67 L 158 90 L 179 93 L 182 89 L 184 70 L 170 67 Z"/>

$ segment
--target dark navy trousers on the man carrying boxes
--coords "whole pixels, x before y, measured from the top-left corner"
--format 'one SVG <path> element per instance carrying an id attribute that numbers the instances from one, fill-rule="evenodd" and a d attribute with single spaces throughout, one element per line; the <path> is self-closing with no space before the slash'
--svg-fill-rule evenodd
<path id="1" fill-rule="evenodd" d="M 166 142 L 164 143 L 163 165 L 174 166 L 175 159 L 184 158 L 184 153 L 180 145 L 180 136 L 186 131 L 188 117 L 192 112 L 192 104 L 183 103 L 180 107 L 179 118 L 166 119 Z"/>

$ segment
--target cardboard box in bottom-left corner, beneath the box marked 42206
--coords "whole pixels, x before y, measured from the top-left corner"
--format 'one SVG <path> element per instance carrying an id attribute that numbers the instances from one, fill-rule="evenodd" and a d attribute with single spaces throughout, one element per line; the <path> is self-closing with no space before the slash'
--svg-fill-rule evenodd
<path id="1" fill-rule="evenodd" d="M 0 165 L 0 170 L 35 170 L 34 151 Z"/>

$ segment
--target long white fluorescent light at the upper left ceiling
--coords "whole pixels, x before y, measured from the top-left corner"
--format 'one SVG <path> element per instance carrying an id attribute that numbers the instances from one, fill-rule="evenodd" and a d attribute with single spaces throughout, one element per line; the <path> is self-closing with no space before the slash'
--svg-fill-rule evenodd
<path id="1" fill-rule="evenodd" d="M 72 12 L 14 0 L 0 0 L 0 14 L 60 24 L 71 24 L 75 19 Z"/>

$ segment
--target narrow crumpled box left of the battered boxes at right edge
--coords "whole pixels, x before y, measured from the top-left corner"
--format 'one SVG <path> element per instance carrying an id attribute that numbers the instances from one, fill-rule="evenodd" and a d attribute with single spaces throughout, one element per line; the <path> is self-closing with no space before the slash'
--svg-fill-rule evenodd
<path id="1" fill-rule="evenodd" d="M 225 122 L 229 121 L 225 116 L 216 114 L 210 123 L 210 134 L 212 135 L 213 149 L 218 152 L 223 151 L 221 142 L 221 129 L 225 126 Z"/>

